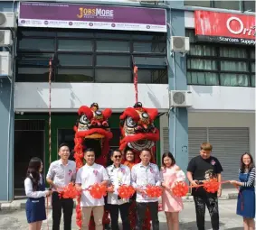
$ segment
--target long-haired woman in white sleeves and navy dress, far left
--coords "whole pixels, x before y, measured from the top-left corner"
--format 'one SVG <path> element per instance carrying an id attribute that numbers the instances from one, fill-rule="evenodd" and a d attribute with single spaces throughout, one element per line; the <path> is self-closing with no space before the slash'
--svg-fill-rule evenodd
<path id="1" fill-rule="evenodd" d="M 46 219 L 45 197 L 51 196 L 52 191 L 45 190 L 43 162 L 33 157 L 29 162 L 24 188 L 27 199 L 25 210 L 29 230 L 41 230 L 42 221 Z"/>

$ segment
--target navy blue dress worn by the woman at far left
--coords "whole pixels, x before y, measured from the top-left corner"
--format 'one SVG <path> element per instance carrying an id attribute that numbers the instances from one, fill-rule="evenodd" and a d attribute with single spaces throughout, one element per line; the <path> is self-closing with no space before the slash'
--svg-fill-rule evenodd
<path id="1" fill-rule="evenodd" d="M 37 191 L 44 191 L 45 183 L 39 184 Z M 43 221 L 46 219 L 45 199 L 42 198 L 28 198 L 25 205 L 26 217 L 28 223 Z"/>

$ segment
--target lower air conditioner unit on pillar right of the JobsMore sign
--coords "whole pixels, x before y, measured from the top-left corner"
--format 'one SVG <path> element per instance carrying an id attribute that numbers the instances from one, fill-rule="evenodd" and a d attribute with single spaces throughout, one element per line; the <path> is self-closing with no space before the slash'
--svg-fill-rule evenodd
<path id="1" fill-rule="evenodd" d="M 191 92 L 186 90 L 171 90 L 169 92 L 170 107 L 190 107 Z"/>

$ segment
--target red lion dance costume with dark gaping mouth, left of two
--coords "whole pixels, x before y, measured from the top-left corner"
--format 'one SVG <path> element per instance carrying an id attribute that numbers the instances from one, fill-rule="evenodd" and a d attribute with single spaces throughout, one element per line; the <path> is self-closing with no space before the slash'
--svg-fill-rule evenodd
<path id="1" fill-rule="evenodd" d="M 113 134 L 109 129 L 108 119 L 112 111 L 106 108 L 100 111 L 97 103 L 93 103 L 90 107 L 81 106 L 78 111 L 79 120 L 74 126 L 75 131 L 75 148 L 74 158 L 76 161 L 77 170 L 84 165 L 83 152 L 87 148 L 92 148 L 95 151 L 95 162 L 106 167 L 109 153 L 109 141 Z M 77 225 L 81 229 L 81 196 L 77 199 Z M 105 209 L 103 225 L 108 226 L 110 223 L 109 211 Z M 90 219 L 90 230 L 95 229 L 93 218 Z"/>

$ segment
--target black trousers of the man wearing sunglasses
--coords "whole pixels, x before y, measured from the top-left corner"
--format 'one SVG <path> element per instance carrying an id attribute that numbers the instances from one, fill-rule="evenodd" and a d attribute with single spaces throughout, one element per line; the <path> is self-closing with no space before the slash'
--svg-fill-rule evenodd
<path id="1" fill-rule="evenodd" d="M 110 218 L 111 218 L 111 229 L 119 230 L 119 210 L 122 219 L 123 230 L 130 230 L 128 208 L 129 203 L 123 205 L 108 205 Z"/>

